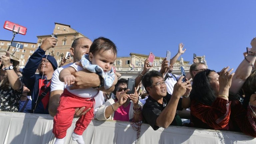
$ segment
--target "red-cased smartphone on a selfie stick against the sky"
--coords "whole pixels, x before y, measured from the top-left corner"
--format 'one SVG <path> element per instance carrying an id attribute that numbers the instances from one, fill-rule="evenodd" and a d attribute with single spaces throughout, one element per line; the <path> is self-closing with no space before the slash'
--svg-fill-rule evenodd
<path id="1" fill-rule="evenodd" d="M 4 29 L 25 35 L 27 33 L 27 28 L 24 26 L 21 26 L 19 24 L 10 22 L 10 21 L 5 21 L 4 23 Z"/>

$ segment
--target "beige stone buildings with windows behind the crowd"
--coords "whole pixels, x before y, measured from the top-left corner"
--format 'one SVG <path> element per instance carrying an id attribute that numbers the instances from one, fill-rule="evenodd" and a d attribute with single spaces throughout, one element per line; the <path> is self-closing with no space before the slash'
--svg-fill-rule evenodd
<path id="1" fill-rule="evenodd" d="M 57 38 L 57 44 L 54 48 L 51 48 L 47 51 L 46 54 L 49 54 L 51 56 L 54 56 L 58 64 L 60 64 L 61 58 L 66 55 L 66 52 L 69 51 L 71 48 L 71 45 L 73 41 L 76 38 L 79 37 L 86 37 L 83 34 L 77 32 L 76 30 L 72 29 L 70 25 L 66 24 L 60 24 L 55 23 L 55 27 L 53 29 L 53 34 L 55 34 Z M 26 64 L 28 58 L 33 54 L 33 52 L 42 44 L 42 41 L 48 37 L 49 35 L 42 35 L 37 36 L 38 40 L 36 43 L 32 42 L 18 42 L 14 41 L 16 43 L 20 43 L 24 45 L 23 49 L 17 49 L 15 51 L 15 47 L 10 48 L 10 52 L 14 53 L 14 57 L 20 61 L 20 68 L 23 68 Z M 0 40 L 0 50 L 7 50 L 10 45 L 10 41 L 7 40 Z M 115 61 L 116 71 L 122 74 L 121 78 L 129 78 L 129 77 L 137 77 L 138 74 L 143 70 L 144 67 L 144 61 L 148 58 L 148 55 L 143 54 L 137 54 L 137 53 L 130 53 L 130 56 L 127 57 L 117 57 Z M 205 62 L 205 56 L 197 57 L 199 61 Z M 152 70 L 160 70 L 161 69 L 161 62 L 163 61 L 164 57 L 158 57 L 155 56 L 154 59 L 154 66 Z M 66 64 L 69 63 L 69 61 L 66 62 Z M 131 69 L 129 67 L 129 64 L 134 65 L 134 69 Z M 180 66 L 183 66 L 185 69 L 185 72 L 189 72 L 190 65 L 189 61 L 184 61 L 183 58 L 180 58 L 180 60 L 177 60 L 177 62 L 174 65 L 173 73 L 180 75 Z"/>

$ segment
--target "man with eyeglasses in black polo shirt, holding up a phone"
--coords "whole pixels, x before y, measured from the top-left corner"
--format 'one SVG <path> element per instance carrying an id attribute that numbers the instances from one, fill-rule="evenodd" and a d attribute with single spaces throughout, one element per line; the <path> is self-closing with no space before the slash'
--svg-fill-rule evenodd
<path id="1" fill-rule="evenodd" d="M 143 106 L 142 114 L 150 126 L 157 130 L 159 127 L 167 128 L 169 125 L 182 126 L 176 110 L 182 110 L 181 96 L 191 91 L 190 81 L 182 83 L 180 77 L 174 85 L 173 94 L 167 93 L 166 82 L 158 71 L 150 71 L 142 79 L 143 86 L 149 94 Z"/>

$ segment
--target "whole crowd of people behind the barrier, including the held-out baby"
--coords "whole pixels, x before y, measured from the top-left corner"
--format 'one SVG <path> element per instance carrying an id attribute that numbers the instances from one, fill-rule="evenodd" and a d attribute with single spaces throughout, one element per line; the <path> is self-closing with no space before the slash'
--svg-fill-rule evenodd
<path id="1" fill-rule="evenodd" d="M 127 94 L 127 79 L 113 70 L 117 48 L 111 40 L 75 39 L 69 50 L 72 62 L 63 66 L 62 59 L 60 67 L 53 56 L 45 55 L 55 45 L 53 37 L 43 40 L 22 74 L 9 52 L 0 55 L 0 111 L 50 114 L 55 144 L 64 143 L 76 117 L 72 138 L 79 144 L 92 119 L 129 121 L 137 132 L 141 123 L 148 123 L 154 130 L 189 126 L 256 137 L 256 38 L 235 73 L 229 67 L 215 72 L 194 58 L 184 82 L 184 76 L 172 74 L 186 51 L 180 43 L 177 54 L 162 61 L 160 71 L 150 70 L 153 65 L 144 61 L 132 94 Z"/>

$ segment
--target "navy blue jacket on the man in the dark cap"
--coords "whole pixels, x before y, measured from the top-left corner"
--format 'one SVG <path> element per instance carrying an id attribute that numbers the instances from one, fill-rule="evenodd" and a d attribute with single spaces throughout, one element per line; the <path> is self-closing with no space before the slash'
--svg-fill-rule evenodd
<path id="1" fill-rule="evenodd" d="M 44 55 L 45 55 L 45 51 L 40 47 L 38 47 L 36 51 L 31 55 L 31 57 L 28 59 L 25 67 L 22 70 L 24 84 L 27 86 L 27 88 L 31 92 L 32 108 L 35 106 L 38 93 L 39 93 L 39 87 L 38 87 L 39 79 L 42 78 L 41 74 L 35 74 L 35 72 L 38 66 L 40 65 Z M 48 93 L 50 93 L 50 91 Z M 49 114 L 48 105 L 46 109 L 44 109 L 43 103 L 40 102 L 34 113 Z"/>

